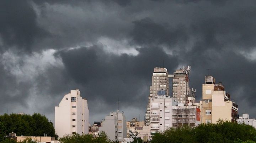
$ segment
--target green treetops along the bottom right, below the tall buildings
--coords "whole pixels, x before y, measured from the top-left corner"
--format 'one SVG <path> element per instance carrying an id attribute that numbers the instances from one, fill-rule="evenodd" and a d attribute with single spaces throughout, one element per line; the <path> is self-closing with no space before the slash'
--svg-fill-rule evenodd
<path id="1" fill-rule="evenodd" d="M 256 129 L 250 125 L 219 120 L 217 124 L 169 128 L 155 133 L 151 143 L 253 143 Z"/>

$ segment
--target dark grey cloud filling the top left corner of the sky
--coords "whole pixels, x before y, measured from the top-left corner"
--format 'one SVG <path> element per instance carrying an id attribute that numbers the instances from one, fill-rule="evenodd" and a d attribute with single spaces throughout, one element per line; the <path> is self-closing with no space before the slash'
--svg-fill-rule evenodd
<path id="1" fill-rule="evenodd" d="M 36 22 L 36 12 L 28 1 L 0 1 L 0 36 L 4 46 L 1 50 L 18 47 L 17 50 L 33 51 L 36 38 L 47 33 Z"/>

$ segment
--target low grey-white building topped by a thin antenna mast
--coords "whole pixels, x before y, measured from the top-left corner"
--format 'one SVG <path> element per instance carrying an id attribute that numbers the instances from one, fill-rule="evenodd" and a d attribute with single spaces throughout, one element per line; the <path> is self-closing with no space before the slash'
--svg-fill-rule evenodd
<path id="1" fill-rule="evenodd" d="M 126 117 L 124 113 L 118 111 L 111 112 L 110 115 L 107 115 L 99 128 L 99 132 L 101 131 L 106 132 L 111 141 L 123 141 L 123 138 L 127 137 Z"/>

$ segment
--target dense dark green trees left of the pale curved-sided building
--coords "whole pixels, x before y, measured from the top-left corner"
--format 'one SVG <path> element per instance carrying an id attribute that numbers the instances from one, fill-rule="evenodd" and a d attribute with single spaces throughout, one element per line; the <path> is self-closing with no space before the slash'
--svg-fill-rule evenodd
<path id="1" fill-rule="evenodd" d="M 39 113 L 28 114 L 4 114 L 0 115 L 0 141 L 10 132 L 16 133 L 16 136 L 47 136 L 58 138 L 55 134 L 53 122 L 46 116 Z"/>

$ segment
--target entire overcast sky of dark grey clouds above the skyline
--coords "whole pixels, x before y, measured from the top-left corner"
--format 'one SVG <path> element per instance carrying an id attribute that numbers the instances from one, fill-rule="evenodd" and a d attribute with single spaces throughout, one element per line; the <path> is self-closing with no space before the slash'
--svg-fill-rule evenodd
<path id="1" fill-rule="evenodd" d="M 41 113 L 78 87 L 90 122 L 117 110 L 144 119 L 154 67 L 191 65 L 256 118 L 255 0 L 0 1 L 0 114 Z M 171 81 L 170 81 L 171 82 Z"/>

